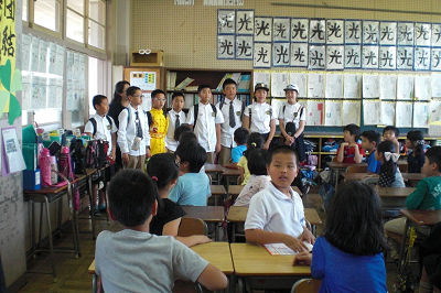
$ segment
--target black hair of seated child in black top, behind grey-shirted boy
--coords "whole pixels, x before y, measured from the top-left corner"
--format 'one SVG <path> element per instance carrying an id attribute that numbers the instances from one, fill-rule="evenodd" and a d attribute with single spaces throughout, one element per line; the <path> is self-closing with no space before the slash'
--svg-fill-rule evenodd
<path id="1" fill-rule="evenodd" d="M 147 163 L 147 174 L 157 177 L 158 188 L 164 188 L 172 180 L 178 178 L 179 169 L 175 155 L 172 153 L 158 153 Z M 154 181 L 154 178 L 153 178 Z"/>

